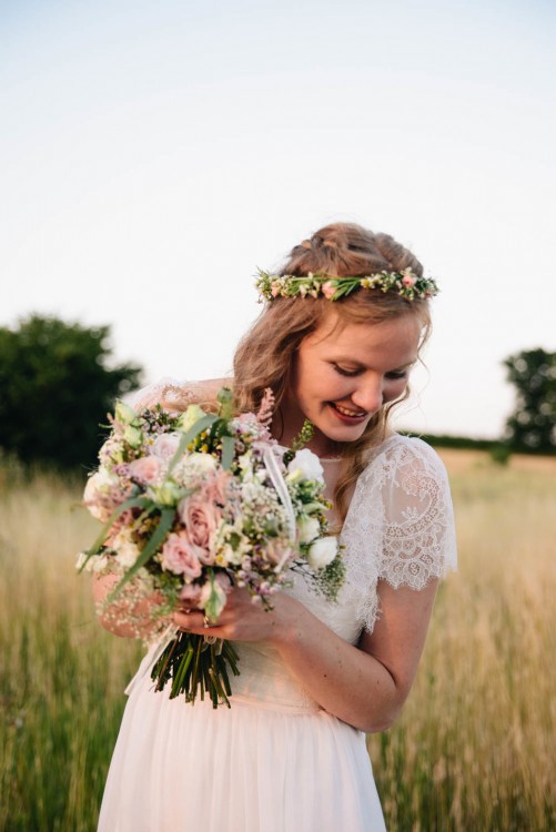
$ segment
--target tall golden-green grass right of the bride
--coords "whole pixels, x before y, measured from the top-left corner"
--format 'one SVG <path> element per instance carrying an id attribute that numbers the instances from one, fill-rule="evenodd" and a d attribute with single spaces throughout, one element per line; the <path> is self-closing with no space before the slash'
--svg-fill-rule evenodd
<path id="1" fill-rule="evenodd" d="M 370 739 L 394 832 L 556 829 L 556 460 L 446 455 L 459 570 L 414 690 Z"/>

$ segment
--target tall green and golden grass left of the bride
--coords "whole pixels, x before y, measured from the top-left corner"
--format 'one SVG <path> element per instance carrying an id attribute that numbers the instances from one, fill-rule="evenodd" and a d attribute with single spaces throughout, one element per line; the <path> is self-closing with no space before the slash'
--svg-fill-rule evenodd
<path id="1" fill-rule="evenodd" d="M 82 485 L 0 474 L 0 829 L 91 832 L 139 645 L 95 621 Z"/>

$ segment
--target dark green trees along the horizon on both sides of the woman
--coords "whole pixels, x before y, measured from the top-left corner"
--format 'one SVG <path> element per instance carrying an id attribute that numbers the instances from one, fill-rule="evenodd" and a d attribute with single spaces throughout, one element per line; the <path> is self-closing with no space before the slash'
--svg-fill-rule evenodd
<path id="1" fill-rule="evenodd" d="M 508 454 L 556 454 L 556 353 L 523 351 L 504 366 L 516 399 L 496 445 Z M 22 463 L 90 469 L 100 425 L 115 398 L 138 388 L 141 374 L 138 365 L 113 364 L 109 326 L 31 315 L 14 328 L 0 327 L 0 450 Z"/>

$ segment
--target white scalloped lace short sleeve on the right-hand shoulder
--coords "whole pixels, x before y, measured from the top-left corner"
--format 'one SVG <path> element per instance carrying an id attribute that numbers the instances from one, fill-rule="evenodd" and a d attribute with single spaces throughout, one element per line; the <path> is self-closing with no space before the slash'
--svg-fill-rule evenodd
<path id="1" fill-rule="evenodd" d="M 449 485 L 437 454 L 394 436 L 361 475 L 342 531 L 363 625 L 377 617 L 376 585 L 423 589 L 456 568 Z"/>

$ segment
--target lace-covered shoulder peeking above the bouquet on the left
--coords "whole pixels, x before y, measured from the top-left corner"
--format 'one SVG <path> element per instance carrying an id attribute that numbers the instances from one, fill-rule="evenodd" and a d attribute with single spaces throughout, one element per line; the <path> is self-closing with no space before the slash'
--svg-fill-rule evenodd
<path id="1" fill-rule="evenodd" d="M 184 410 L 192 404 L 214 404 L 218 392 L 226 386 L 232 386 L 232 379 L 205 378 L 183 382 L 164 376 L 132 393 L 129 404 L 134 410 L 143 410 L 159 404 L 166 409 Z"/>

